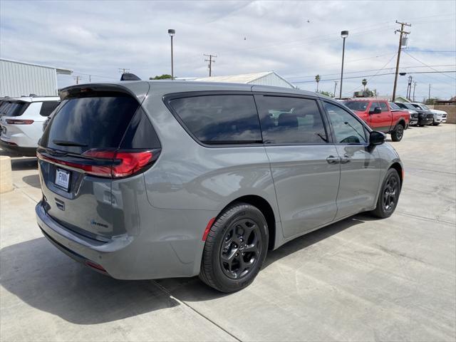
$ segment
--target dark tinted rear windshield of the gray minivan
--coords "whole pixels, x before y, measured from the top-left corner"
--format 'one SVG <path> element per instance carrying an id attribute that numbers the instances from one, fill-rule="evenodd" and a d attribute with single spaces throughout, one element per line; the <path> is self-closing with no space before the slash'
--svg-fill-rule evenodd
<path id="1" fill-rule="evenodd" d="M 122 94 L 64 100 L 41 146 L 74 153 L 118 148 L 138 106 L 138 101 Z"/>

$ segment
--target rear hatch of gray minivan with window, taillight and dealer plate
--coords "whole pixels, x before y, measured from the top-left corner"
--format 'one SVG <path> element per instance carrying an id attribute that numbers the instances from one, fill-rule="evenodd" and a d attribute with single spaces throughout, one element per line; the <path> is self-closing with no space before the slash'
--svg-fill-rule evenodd
<path id="1" fill-rule="evenodd" d="M 135 235 L 137 227 L 125 227 L 123 194 L 113 194 L 113 182 L 142 177 L 159 153 L 138 98 L 120 90 L 70 89 L 37 151 L 43 207 L 85 237 L 103 242 Z"/>

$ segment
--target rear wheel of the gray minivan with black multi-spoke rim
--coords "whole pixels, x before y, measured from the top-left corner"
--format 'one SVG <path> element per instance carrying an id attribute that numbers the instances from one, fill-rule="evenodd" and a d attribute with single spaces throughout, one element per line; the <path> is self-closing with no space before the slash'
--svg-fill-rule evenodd
<path id="1" fill-rule="evenodd" d="M 268 238 L 266 219 L 257 207 L 240 202 L 230 205 L 207 234 L 199 279 L 225 293 L 244 289 L 261 269 Z"/>

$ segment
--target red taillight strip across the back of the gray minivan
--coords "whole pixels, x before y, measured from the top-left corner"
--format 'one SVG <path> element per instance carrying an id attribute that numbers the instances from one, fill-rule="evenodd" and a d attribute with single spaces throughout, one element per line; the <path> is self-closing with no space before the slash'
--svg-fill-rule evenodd
<path id="1" fill-rule="evenodd" d="M 57 159 L 49 155 L 37 152 L 39 159 L 48 160 L 56 164 L 75 167 L 83 170 L 88 175 L 98 177 L 120 178 L 127 177 L 142 170 L 144 167 L 152 165 L 160 153 L 160 150 L 150 150 L 141 152 L 125 152 L 110 150 L 88 150 L 81 156 L 81 162 L 76 159 L 66 160 Z"/>

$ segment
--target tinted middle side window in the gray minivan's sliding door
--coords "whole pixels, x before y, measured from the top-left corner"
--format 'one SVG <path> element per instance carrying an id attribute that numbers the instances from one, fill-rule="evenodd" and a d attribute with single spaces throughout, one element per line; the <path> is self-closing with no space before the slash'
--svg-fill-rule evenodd
<path id="1" fill-rule="evenodd" d="M 269 144 L 321 144 L 328 138 L 316 100 L 256 95 L 263 141 Z"/>

